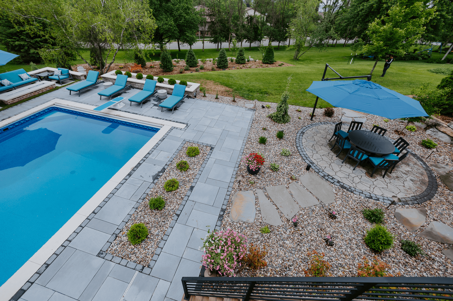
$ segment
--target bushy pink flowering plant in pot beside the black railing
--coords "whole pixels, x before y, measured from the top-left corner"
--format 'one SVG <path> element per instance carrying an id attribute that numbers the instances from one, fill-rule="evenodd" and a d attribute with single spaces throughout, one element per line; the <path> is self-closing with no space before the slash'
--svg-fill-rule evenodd
<path id="1" fill-rule="evenodd" d="M 206 235 L 203 242 L 202 264 L 215 269 L 221 276 L 235 277 L 234 270 L 241 266 L 246 255 L 247 238 L 231 229 L 213 231 Z"/>

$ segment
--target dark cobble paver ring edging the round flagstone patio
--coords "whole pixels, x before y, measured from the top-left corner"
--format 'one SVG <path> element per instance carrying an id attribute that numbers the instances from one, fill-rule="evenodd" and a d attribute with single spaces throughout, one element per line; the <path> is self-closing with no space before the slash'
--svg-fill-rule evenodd
<path id="1" fill-rule="evenodd" d="M 313 124 L 308 124 L 304 126 L 302 129 L 297 132 L 296 135 L 296 147 L 297 150 L 299 151 L 299 154 L 302 156 L 304 161 L 308 164 L 311 165 L 313 170 L 318 173 L 319 176 L 323 177 L 325 180 L 328 182 L 333 183 L 334 185 L 340 186 L 343 189 L 346 189 L 347 191 L 350 191 L 352 193 L 355 193 L 357 195 L 375 200 L 375 201 L 381 201 L 385 202 L 387 204 L 390 204 L 392 201 L 391 197 L 388 196 L 377 196 L 373 193 L 369 193 L 367 191 L 361 191 L 360 189 L 356 187 L 349 186 L 336 178 L 332 177 L 328 173 L 324 172 L 321 167 L 319 167 L 313 160 L 307 155 L 305 152 L 304 146 L 302 144 L 302 138 L 304 137 L 305 132 L 307 132 L 308 129 L 311 129 L 312 127 L 322 125 L 322 124 L 332 124 L 335 125 L 333 122 L 317 122 Z M 393 140 L 391 140 L 393 142 Z M 413 153 L 410 151 L 410 149 L 406 148 L 406 150 L 417 160 L 419 163 L 424 167 L 424 170 L 428 176 L 428 186 L 426 189 L 420 193 L 419 195 L 416 196 L 410 196 L 410 197 L 404 197 L 401 198 L 402 204 L 403 205 L 413 205 L 413 204 L 421 204 L 425 201 L 431 200 L 434 195 L 437 193 L 437 180 L 436 177 L 434 176 L 434 172 L 431 170 L 431 168 L 426 164 L 416 153 Z"/>

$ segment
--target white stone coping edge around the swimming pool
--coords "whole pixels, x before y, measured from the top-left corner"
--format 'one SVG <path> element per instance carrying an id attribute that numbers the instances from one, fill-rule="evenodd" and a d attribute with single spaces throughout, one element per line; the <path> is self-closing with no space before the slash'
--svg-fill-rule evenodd
<path id="1" fill-rule="evenodd" d="M 0 301 L 9 301 L 14 294 L 19 291 L 21 287 L 36 273 L 41 266 L 46 263 L 48 258 L 66 241 L 66 239 L 82 224 L 82 222 L 92 214 L 93 210 L 104 201 L 104 199 L 111 193 L 111 191 L 124 179 L 124 177 L 137 165 L 141 159 L 149 152 L 151 148 L 159 142 L 162 137 L 171 129 L 176 127 L 183 129 L 186 124 L 181 124 L 169 120 L 157 119 L 152 117 L 146 117 L 142 115 L 136 115 L 117 110 L 104 110 L 104 112 L 96 112 L 92 109 L 96 108 L 94 105 L 86 105 L 78 102 L 54 99 L 50 100 L 42 105 L 36 106 L 33 109 L 22 112 L 18 115 L 12 116 L 8 119 L 0 121 L 0 128 L 7 124 L 12 124 L 20 119 L 23 119 L 29 115 L 33 115 L 41 110 L 45 110 L 51 106 L 58 106 L 67 109 L 82 111 L 92 115 L 105 116 L 113 119 L 127 120 L 132 123 L 145 124 L 147 126 L 160 127 L 159 131 L 149 139 L 140 150 L 135 153 L 118 172 L 113 175 L 99 189 L 72 217 L 53 234 L 53 236 L 34 253 L 32 257 L 27 260 L 22 267 L 20 267 L 1 287 L 0 287 Z"/>

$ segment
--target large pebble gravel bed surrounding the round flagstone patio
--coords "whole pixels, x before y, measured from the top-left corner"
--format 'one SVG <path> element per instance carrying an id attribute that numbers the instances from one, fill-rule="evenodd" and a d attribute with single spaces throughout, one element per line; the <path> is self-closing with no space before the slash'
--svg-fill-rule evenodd
<path id="1" fill-rule="evenodd" d="M 218 100 L 214 96 L 207 96 L 207 100 L 218 101 L 222 103 L 234 104 L 231 102 L 231 97 L 220 97 Z M 261 105 L 270 105 L 269 109 L 262 109 Z M 241 162 L 237 175 L 244 175 L 245 180 L 241 181 L 240 190 L 262 189 L 265 191 L 265 186 L 286 185 L 292 182 L 290 177 L 300 177 L 307 173 L 305 167 L 307 163 L 303 161 L 299 155 L 295 138 L 296 134 L 303 126 L 312 122 L 337 122 L 341 117 L 341 109 L 335 108 L 336 114 L 333 118 L 328 118 L 323 115 L 323 109 L 316 109 L 313 121 L 309 120 L 309 114 L 313 109 L 289 106 L 289 115 L 291 121 L 287 124 L 277 124 L 266 116 L 275 112 L 276 103 L 256 102 L 255 119 L 253 120 L 249 137 L 244 149 L 244 155 L 252 152 L 261 152 L 265 157 L 265 165 L 261 167 L 260 172 L 256 176 L 247 173 L 246 166 Z M 300 109 L 301 112 L 296 110 Z M 298 119 L 298 117 L 301 119 Z M 367 121 L 364 127 L 371 129 L 372 124 L 379 124 L 381 127 L 388 129 L 386 136 L 391 139 L 397 139 L 400 135 L 395 134 L 395 129 L 402 129 L 406 124 L 396 120 L 384 122 L 384 118 L 374 115 L 367 115 Z M 262 128 L 266 128 L 263 130 Z M 279 130 L 284 130 L 284 138 L 279 140 L 275 134 Z M 437 151 L 434 152 L 429 161 L 450 165 L 452 164 L 452 146 L 448 143 L 442 143 L 438 139 L 433 138 L 424 133 L 424 130 L 417 128 L 417 131 L 412 133 L 404 131 L 404 138 L 410 143 L 409 148 L 417 153 L 422 159 L 425 159 L 432 151 L 423 148 L 418 143 L 421 139 L 432 139 L 439 144 Z M 268 138 L 267 143 L 259 144 L 260 136 Z M 287 148 L 291 155 L 284 157 L 280 155 L 282 148 Z M 278 172 L 270 170 L 270 163 L 280 165 Z M 310 171 L 311 172 L 311 171 Z M 437 176 L 437 172 L 434 171 Z M 446 186 L 440 182 L 438 193 L 430 201 L 423 203 L 427 209 L 427 219 L 424 225 L 414 233 L 410 233 L 402 224 L 394 217 L 394 212 L 397 207 L 400 208 L 416 208 L 422 205 L 392 205 L 388 210 L 384 204 L 379 201 L 373 201 L 355 195 L 351 192 L 343 190 L 338 186 L 333 186 L 333 191 L 336 195 L 334 203 L 329 205 L 315 205 L 312 207 L 299 210 L 299 226 L 295 228 L 289 220 L 279 211 L 283 225 L 269 225 L 270 234 L 261 234 L 260 228 L 267 224 L 262 222 L 258 198 L 256 197 L 256 217 L 253 223 L 233 222 L 229 215 L 234 194 L 238 191 L 236 181 L 232 187 L 231 197 L 226 208 L 224 219 L 222 221 L 222 229 L 231 228 L 245 234 L 249 243 L 254 243 L 261 248 L 265 247 L 268 254 L 265 260 L 268 266 L 252 272 L 243 269 L 238 273 L 238 276 L 304 276 L 304 270 L 307 268 L 308 256 L 307 252 L 316 249 L 319 253 L 325 253 L 325 259 L 332 264 L 330 270 L 332 276 L 357 276 L 358 263 L 362 262 L 362 256 L 372 259 L 373 256 L 381 259 L 390 265 L 390 272 L 393 274 L 400 273 L 402 276 L 442 276 L 452 277 L 452 263 L 446 258 L 442 249 L 447 248 L 447 244 L 441 244 L 428 239 L 424 239 L 416 234 L 422 232 L 431 221 L 441 221 L 450 227 L 453 227 L 453 192 L 446 189 Z M 298 182 L 300 185 L 301 183 Z M 265 192 L 266 196 L 267 193 Z M 256 196 L 256 193 L 255 193 Z M 269 197 L 269 196 L 268 196 Z M 361 210 L 365 208 L 381 208 L 385 212 L 385 226 L 395 236 L 395 244 L 390 250 L 380 254 L 373 253 L 364 243 L 363 238 L 366 235 L 366 230 L 370 229 L 372 224 L 363 218 Z M 335 210 L 339 214 L 339 219 L 331 220 L 328 217 L 328 211 Z M 334 240 L 332 247 L 327 246 L 323 238 L 330 234 Z M 417 244 L 427 254 L 426 256 L 410 257 L 400 248 L 400 240 L 410 239 Z"/>

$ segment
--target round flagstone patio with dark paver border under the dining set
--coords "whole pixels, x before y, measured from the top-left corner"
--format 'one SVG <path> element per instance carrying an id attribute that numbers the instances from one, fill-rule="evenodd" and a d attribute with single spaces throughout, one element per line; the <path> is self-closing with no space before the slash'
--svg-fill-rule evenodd
<path id="1" fill-rule="evenodd" d="M 296 144 L 305 162 L 314 171 L 335 185 L 341 186 L 361 196 L 389 203 L 391 196 L 398 196 L 403 204 L 422 203 L 430 200 L 437 191 L 437 182 L 428 165 L 416 154 L 410 154 L 383 178 L 383 170 L 377 169 L 369 177 L 373 167 L 369 162 L 358 165 L 357 161 L 346 159 L 346 151 L 336 157 L 339 148 L 331 151 L 335 139 L 332 137 L 334 123 L 315 123 L 299 130 Z M 393 142 L 393 141 L 392 141 Z M 406 150 L 408 150 L 406 148 Z M 368 173 L 368 175 L 366 175 Z"/>

